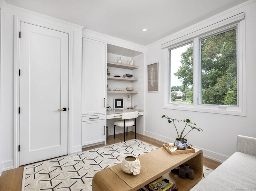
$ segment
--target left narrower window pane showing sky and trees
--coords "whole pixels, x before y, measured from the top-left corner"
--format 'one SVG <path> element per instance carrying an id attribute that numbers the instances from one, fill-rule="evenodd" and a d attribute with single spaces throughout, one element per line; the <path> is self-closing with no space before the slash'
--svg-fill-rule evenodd
<path id="1" fill-rule="evenodd" d="M 193 43 L 170 49 L 170 102 L 193 103 Z"/>

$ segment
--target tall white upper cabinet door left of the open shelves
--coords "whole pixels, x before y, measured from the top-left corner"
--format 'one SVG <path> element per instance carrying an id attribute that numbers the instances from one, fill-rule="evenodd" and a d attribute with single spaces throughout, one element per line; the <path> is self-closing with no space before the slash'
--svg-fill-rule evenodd
<path id="1" fill-rule="evenodd" d="M 104 114 L 106 43 L 83 38 L 82 114 Z"/>

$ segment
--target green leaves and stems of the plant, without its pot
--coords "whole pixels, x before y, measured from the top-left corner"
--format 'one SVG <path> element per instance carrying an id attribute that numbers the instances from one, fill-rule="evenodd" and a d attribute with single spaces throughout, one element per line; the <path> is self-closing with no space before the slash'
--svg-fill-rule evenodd
<path id="1" fill-rule="evenodd" d="M 177 134 L 178 134 L 178 140 L 179 140 L 179 141 L 186 141 L 185 136 L 186 136 L 190 131 L 192 131 L 192 130 L 194 130 L 194 129 L 196 129 L 196 130 L 198 130 L 198 131 L 202 130 L 201 128 L 196 128 L 196 127 L 195 127 L 196 124 L 193 123 L 193 122 L 191 122 L 190 119 L 176 120 L 176 119 L 171 118 L 171 117 L 169 117 L 169 116 L 167 116 L 167 115 L 163 115 L 162 118 L 163 118 L 163 117 L 165 117 L 166 119 L 168 119 L 168 123 L 173 123 L 173 125 L 174 125 L 174 127 L 175 127 L 175 129 L 176 129 L 176 132 L 177 132 Z M 186 122 L 186 125 L 185 125 L 185 127 L 183 128 L 183 130 L 182 130 L 182 132 L 181 132 L 180 134 L 178 133 L 178 130 L 177 130 L 177 128 L 176 128 L 176 125 L 175 125 L 174 121 Z M 194 126 L 192 126 L 192 125 L 194 125 Z M 191 130 L 188 131 L 188 132 L 184 135 L 184 130 L 185 130 L 186 126 L 190 126 Z M 202 130 L 202 132 L 203 132 L 203 130 Z"/>

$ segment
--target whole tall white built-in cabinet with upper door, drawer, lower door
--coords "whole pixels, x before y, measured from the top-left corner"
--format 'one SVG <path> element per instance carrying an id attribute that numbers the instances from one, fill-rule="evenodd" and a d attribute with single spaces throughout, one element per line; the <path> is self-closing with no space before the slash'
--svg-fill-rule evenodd
<path id="1" fill-rule="evenodd" d="M 82 146 L 106 140 L 106 43 L 83 38 Z"/>

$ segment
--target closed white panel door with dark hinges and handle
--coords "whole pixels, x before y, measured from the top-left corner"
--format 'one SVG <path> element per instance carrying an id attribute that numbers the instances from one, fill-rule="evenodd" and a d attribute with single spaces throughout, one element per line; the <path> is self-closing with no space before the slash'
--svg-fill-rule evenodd
<path id="1" fill-rule="evenodd" d="M 20 24 L 20 165 L 68 154 L 68 34 Z M 58 109 L 67 108 L 66 111 Z"/>

